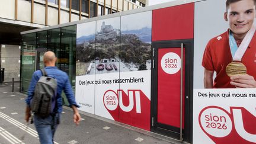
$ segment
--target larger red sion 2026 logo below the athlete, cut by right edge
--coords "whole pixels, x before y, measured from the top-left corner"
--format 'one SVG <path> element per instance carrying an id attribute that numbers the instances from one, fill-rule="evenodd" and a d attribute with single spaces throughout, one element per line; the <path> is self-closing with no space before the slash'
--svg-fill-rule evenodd
<path id="1" fill-rule="evenodd" d="M 244 107 L 224 108 L 209 106 L 199 114 L 201 129 L 215 143 L 256 143 L 256 110 Z"/>

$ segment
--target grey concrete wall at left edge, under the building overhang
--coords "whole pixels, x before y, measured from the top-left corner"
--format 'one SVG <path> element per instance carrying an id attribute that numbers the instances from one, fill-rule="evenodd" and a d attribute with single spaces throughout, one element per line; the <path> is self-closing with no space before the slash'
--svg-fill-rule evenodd
<path id="1" fill-rule="evenodd" d="M 20 46 L 1 44 L 1 68 L 5 68 L 4 82 L 20 81 Z"/>

